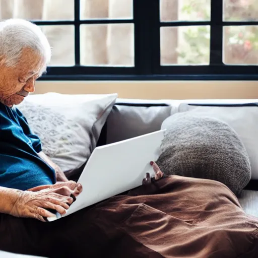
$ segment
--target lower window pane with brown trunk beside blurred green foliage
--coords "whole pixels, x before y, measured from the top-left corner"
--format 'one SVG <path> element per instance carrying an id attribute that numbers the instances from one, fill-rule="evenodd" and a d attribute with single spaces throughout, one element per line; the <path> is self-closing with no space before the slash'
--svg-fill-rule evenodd
<path id="1" fill-rule="evenodd" d="M 209 64 L 210 26 L 161 27 L 161 65 Z"/>

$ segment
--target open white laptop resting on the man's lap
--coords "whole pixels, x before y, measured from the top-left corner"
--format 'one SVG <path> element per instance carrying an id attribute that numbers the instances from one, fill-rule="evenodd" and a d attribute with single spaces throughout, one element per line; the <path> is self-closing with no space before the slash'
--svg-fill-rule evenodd
<path id="1" fill-rule="evenodd" d="M 164 132 L 160 130 L 128 140 L 96 147 L 78 180 L 83 191 L 65 215 L 48 218 L 54 221 L 78 210 L 142 185 L 150 165 L 160 156 Z"/>

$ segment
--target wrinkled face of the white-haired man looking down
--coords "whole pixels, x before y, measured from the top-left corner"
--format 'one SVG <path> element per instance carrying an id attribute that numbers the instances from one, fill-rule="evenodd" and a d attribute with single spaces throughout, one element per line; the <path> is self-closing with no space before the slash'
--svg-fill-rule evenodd
<path id="1" fill-rule="evenodd" d="M 41 76 L 44 58 L 33 49 L 24 48 L 16 67 L 0 65 L 0 102 L 12 107 L 20 104 L 35 90 L 35 81 Z"/>

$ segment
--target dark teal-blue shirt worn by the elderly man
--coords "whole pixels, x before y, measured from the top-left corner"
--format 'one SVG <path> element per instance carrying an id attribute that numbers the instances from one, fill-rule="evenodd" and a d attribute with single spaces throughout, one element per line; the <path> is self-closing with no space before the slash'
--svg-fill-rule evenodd
<path id="1" fill-rule="evenodd" d="M 0 186 L 27 190 L 54 184 L 54 169 L 38 156 L 41 150 L 21 111 L 0 103 Z"/>

